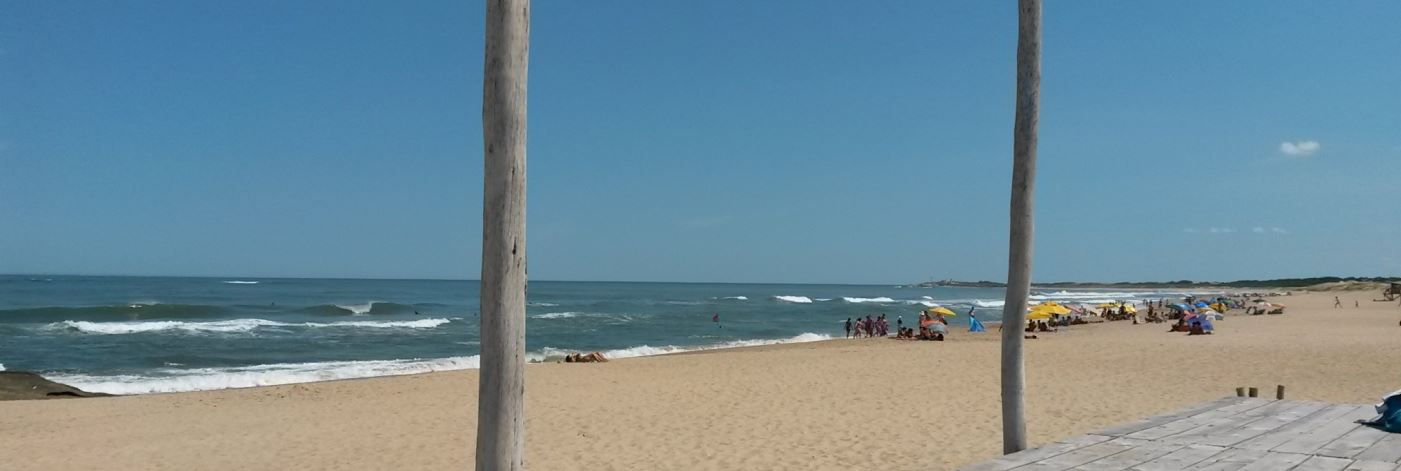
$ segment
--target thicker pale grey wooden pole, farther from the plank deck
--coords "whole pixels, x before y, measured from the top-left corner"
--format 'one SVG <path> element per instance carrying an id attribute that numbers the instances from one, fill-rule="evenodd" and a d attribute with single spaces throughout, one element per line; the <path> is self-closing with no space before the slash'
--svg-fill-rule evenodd
<path id="1" fill-rule="evenodd" d="M 524 470 L 525 77 L 530 0 L 486 1 L 482 73 L 482 369 L 476 468 Z"/>

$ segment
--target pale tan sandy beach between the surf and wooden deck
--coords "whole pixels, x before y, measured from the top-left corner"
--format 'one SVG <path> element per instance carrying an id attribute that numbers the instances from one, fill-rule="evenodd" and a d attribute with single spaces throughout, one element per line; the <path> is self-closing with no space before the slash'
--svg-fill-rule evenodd
<path id="1" fill-rule="evenodd" d="M 1233 394 L 1374 402 L 1401 307 L 1279 297 L 1217 334 L 1108 322 L 1027 341 L 1033 444 Z M 1362 307 L 1353 308 L 1352 300 Z M 998 334 L 831 341 L 527 369 L 535 470 L 950 470 L 1000 453 Z M 476 371 L 0 402 L 4 470 L 465 470 Z"/>

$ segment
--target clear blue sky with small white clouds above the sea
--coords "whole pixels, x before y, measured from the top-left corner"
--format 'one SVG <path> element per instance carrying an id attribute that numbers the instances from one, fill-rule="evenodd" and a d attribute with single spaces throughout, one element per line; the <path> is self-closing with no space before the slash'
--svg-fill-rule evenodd
<path id="1" fill-rule="evenodd" d="M 1003 279 L 1014 1 L 535 1 L 534 279 Z M 478 1 L 0 4 L 0 272 L 469 278 Z M 1035 279 L 1401 275 L 1401 3 L 1048 1 Z"/>

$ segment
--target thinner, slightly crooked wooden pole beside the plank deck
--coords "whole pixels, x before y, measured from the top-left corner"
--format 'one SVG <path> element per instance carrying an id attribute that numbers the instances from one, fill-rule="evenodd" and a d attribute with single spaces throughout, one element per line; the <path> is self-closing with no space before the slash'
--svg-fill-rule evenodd
<path id="1" fill-rule="evenodd" d="M 1017 118 L 1012 128 L 1012 234 L 1002 308 L 1002 453 L 1027 447 L 1021 327 L 1031 290 L 1031 241 L 1041 105 L 1041 0 L 1017 1 Z"/>

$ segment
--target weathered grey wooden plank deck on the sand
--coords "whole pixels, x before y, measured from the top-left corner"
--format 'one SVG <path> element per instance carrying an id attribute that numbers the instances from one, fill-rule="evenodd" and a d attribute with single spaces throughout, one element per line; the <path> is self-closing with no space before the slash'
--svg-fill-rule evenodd
<path id="1" fill-rule="evenodd" d="M 1401 471 L 1372 405 L 1229 397 L 978 463 L 964 471 Z"/>

